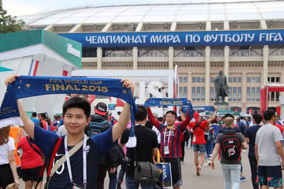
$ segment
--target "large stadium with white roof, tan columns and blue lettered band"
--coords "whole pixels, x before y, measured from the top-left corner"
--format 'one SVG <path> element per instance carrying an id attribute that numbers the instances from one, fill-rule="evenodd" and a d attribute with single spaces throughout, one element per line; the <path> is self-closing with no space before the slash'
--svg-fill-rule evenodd
<path id="1" fill-rule="evenodd" d="M 82 68 L 174 70 L 179 97 L 214 104 L 214 77 L 228 79 L 231 110 L 258 111 L 261 87 L 284 83 L 284 2 L 102 6 L 19 17 L 82 43 Z M 281 92 L 270 92 L 269 107 Z"/>

